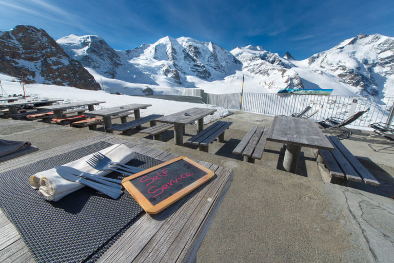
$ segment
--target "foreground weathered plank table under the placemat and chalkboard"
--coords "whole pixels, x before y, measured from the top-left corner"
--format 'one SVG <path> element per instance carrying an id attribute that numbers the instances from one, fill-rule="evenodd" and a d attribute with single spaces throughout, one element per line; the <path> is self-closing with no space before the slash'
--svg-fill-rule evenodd
<path id="1" fill-rule="evenodd" d="M 136 144 L 109 135 L 100 135 L 8 161 L 0 164 L 0 171 L 14 170 L 103 141 L 125 144 L 136 153 L 161 161 L 178 157 L 147 147 L 144 143 Z M 213 171 L 215 177 L 159 214 L 143 213 L 137 217 L 99 258 L 99 262 L 195 262 L 196 254 L 233 178 L 233 172 L 229 168 L 197 162 Z M 128 193 L 124 193 L 126 194 Z M 34 261 L 23 239 L 1 211 L 0 222 L 2 229 L 7 231 L 7 234 L 0 235 L 0 261 Z M 74 260 L 71 257 L 69 261 Z"/>

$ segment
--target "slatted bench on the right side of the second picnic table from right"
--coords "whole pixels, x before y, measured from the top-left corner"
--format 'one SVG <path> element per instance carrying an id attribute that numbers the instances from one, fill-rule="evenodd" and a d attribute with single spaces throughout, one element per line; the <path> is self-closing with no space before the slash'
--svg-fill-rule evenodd
<path id="1" fill-rule="evenodd" d="M 232 122 L 216 121 L 211 126 L 203 129 L 200 133 L 194 135 L 186 143 L 198 145 L 200 151 L 208 152 L 209 143 L 218 137 L 219 142 L 224 142 L 224 131 L 230 127 Z"/>

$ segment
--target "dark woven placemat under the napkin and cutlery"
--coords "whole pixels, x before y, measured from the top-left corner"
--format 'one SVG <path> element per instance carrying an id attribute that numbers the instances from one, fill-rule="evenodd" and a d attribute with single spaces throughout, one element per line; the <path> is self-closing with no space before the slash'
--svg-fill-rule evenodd
<path id="1" fill-rule="evenodd" d="M 117 200 L 89 187 L 56 202 L 46 201 L 33 190 L 29 177 L 112 144 L 97 142 L 0 174 L 0 208 L 14 224 L 38 262 L 95 261 L 142 213 L 141 206 L 125 191 Z M 128 164 L 149 168 L 162 163 L 136 154 Z M 107 175 L 122 179 L 120 173 Z"/>

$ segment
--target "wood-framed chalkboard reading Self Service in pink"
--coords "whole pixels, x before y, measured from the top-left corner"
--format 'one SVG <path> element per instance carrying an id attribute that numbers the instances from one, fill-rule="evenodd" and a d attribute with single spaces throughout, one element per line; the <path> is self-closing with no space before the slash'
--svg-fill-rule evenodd
<path id="1" fill-rule="evenodd" d="M 122 185 L 148 214 L 157 214 L 209 179 L 214 173 L 178 157 L 122 180 Z"/>

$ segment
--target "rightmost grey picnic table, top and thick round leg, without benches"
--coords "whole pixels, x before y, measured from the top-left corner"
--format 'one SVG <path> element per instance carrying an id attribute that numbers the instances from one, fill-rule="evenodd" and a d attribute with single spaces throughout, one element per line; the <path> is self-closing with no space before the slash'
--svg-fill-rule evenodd
<path id="1" fill-rule="evenodd" d="M 267 141 L 286 145 L 283 167 L 290 173 L 297 171 L 301 146 L 329 151 L 334 149 L 319 126 L 312 120 L 287 116 L 273 118 Z"/>

